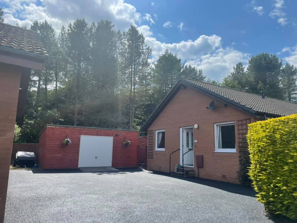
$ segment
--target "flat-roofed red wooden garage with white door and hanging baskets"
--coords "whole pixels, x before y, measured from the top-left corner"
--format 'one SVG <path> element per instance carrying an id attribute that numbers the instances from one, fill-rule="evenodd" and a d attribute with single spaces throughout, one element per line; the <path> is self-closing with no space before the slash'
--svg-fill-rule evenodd
<path id="1" fill-rule="evenodd" d="M 43 169 L 137 167 L 138 131 L 46 125 L 39 136 L 38 165 Z"/>

